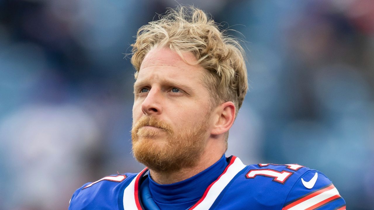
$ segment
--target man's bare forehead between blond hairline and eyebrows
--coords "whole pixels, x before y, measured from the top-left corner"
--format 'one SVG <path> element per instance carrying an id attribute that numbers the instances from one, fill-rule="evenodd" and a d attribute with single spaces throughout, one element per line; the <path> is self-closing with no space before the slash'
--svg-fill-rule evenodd
<path id="1" fill-rule="evenodd" d="M 196 62 L 192 53 L 181 53 L 188 63 Z M 154 48 L 145 55 L 140 70 L 138 80 L 159 77 L 159 79 L 185 78 L 186 80 L 203 83 L 206 70 L 200 65 L 190 65 L 186 63 L 178 53 L 169 48 Z"/>

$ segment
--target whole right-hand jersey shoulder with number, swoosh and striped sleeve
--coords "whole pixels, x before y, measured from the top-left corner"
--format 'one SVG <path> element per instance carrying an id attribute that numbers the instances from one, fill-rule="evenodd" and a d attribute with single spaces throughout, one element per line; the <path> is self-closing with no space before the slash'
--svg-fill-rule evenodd
<path id="1" fill-rule="evenodd" d="M 331 180 L 298 164 L 246 166 L 227 192 L 230 199 L 256 203 L 254 209 L 345 209 L 345 201 Z"/>

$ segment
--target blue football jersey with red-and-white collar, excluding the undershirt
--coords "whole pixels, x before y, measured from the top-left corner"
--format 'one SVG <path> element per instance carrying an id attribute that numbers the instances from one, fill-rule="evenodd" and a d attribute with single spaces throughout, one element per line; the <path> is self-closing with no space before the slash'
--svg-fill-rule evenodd
<path id="1" fill-rule="evenodd" d="M 245 166 L 231 156 L 223 173 L 188 210 L 345 210 L 344 199 L 321 172 L 297 164 Z M 140 173 L 106 176 L 74 192 L 69 210 L 146 210 Z M 157 209 L 157 207 L 155 207 Z"/>

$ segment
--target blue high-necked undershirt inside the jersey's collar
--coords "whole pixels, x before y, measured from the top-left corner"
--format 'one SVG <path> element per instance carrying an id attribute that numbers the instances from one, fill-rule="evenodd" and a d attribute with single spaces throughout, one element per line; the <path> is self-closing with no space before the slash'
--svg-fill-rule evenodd
<path id="1" fill-rule="evenodd" d="M 186 210 L 204 194 L 206 188 L 227 166 L 225 155 L 197 175 L 181 182 L 160 185 L 148 176 L 141 183 L 141 200 L 147 210 Z"/>

